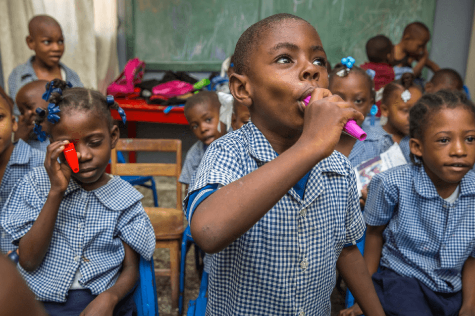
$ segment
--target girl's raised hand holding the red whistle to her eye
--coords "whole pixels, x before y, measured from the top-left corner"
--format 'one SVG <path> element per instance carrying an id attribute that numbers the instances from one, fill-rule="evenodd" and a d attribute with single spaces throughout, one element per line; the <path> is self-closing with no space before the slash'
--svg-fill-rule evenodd
<path id="1" fill-rule="evenodd" d="M 67 163 L 58 162 L 58 157 L 69 141 L 57 141 L 48 145 L 46 150 L 45 168 L 51 182 L 51 190 L 65 192 L 71 179 L 71 168 Z"/>

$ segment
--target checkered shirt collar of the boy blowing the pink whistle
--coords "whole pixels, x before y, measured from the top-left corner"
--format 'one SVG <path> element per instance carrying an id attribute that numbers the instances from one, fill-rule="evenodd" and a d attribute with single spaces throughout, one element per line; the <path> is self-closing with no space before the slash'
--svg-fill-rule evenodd
<path id="1" fill-rule="evenodd" d="M 271 161 L 277 157 L 277 154 L 269 141 L 264 137 L 263 133 L 261 133 L 256 125 L 249 121 L 247 124 L 243 125 L 242 129 L 245 137 L 248 138 L 248 151 L 251 156 L 263 162 Z M 317 171 L 335 172 L 344 176 L 348 175 L 348 170 L 344 165 L 339 163 L 340 160 L 335 159 L 337 155 L 342 156 L 338 152 L 333 152 L 330 157 L 321 160 L 316 165 Z"/>

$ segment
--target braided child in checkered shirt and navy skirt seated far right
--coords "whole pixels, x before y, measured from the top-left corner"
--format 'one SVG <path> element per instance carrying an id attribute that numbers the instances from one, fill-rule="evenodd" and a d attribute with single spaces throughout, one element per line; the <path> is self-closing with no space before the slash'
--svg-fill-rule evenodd
<path id="1" fill-rule="evenodd" d="M 410 121 L 415 164 L 369 183 L 365 260 L 386 315 L 474 315 L 475 106 L 442 90 Z"/>

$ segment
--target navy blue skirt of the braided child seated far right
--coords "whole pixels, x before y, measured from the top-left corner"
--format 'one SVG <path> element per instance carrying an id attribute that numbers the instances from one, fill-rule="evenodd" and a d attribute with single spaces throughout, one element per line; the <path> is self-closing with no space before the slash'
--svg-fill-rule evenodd
<path id="1" fill-rule="evenodd" d="M 462 291 L 438 293 L 416 278 L 385 269 L 372 275 L 374 288 L 388 316 L 458 316 Z"/>

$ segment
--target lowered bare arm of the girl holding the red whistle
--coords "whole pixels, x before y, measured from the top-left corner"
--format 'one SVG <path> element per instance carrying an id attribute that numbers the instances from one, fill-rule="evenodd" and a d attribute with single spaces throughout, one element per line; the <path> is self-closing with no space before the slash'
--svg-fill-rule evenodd
<path id="1" fill-rule="evenodd" d="M 139 259 L 137 253 L 126 243 L 122 270 L 114 285 L 99 294 L 79 316 L 112 316 L 115 306 L 134 288 L 139 279 Z"/>

